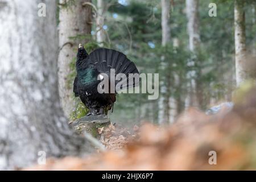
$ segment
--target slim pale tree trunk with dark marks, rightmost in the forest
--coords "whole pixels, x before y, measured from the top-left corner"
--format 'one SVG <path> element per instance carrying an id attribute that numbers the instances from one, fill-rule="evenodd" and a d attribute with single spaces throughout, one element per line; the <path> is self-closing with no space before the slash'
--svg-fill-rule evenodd
<path id="1" fill-rule="evenodd" d="M 245 45 L 245 1 L 236 0 L 234 2 L 234 39 L 236 49 L 236 82 L 237 86 L 246 79 L 245 64 L 246 45 Z"/>

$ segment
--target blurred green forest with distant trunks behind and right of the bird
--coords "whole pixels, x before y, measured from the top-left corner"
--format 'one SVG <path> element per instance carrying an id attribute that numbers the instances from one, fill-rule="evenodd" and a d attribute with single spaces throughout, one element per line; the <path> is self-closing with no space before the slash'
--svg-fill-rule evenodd
<path id="1" fill-rule="evenodd" d="M 217 5 L 216 16 L 209 15 L 210 3 Z M 124 52 L 141 73 L 159 73 L 160 77 L 158 100 L 148 100 L 147 94 L 118 94 L 110 115 L 113 122 L 173 123 L 189 106 L 206 110 L 232 101 L 236 88 L 234 1 L 98 0 L 88 6 L 93 7 L 92 31 L 78 36 L 78 42 L 88 38 L 89 52 L 96 47 Z M 245 1 L 243 6 L 245 44 L 252 55 L 255 1 Z"/>

